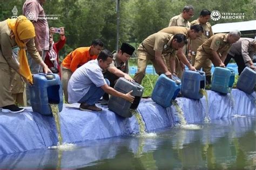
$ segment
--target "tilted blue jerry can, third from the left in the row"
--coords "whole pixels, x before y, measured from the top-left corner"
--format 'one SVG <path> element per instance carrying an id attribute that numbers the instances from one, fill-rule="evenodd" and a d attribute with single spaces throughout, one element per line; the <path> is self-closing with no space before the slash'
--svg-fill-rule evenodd
<path id="1" fill-rule="evenodd" d="M 152 100 L 164 108 L 171 106 L 171 100 L 175 100 L 181 88 L 180 79 L 175 76 L 173 79 L 161 74 L 152 92 Z"/>

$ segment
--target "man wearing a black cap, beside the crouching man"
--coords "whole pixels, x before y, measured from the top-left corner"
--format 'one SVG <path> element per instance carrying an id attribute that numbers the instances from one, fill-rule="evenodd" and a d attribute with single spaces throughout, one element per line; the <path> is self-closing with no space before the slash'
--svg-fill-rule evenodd
<path id="1" fill-rule="evenodd" d="M 104 78 L 110 81 L 110 87 L 114 87 L 119 77 L 124 77 L 126 80 L 134 81 L 129 75 L 129 59 L 135 48 L 124 42 L 117 53 L 113 54 L 113 62 L 103 72 Z M 102 105 L 106 105 L 109 101 L 109 94 L 103 95 Z"/>

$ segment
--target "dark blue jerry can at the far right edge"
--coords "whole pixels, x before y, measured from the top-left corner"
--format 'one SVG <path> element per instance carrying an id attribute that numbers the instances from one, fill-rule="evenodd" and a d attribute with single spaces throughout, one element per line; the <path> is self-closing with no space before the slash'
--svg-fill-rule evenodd
<path id="1" fill-rule="evenodd" d="M 245 67 L 237 81 L 237 88 L 247 94 L 251 94 L 254 91 L 255 84 L 256 72 L 249 67 Z"/>

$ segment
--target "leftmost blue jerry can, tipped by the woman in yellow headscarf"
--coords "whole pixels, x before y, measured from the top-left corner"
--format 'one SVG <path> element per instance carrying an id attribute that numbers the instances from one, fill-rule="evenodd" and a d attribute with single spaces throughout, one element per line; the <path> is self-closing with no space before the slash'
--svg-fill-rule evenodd
<path id="1" fill-rule="evenodd" d="M 63 107 L 62 83 L 58 74 L 33 74 L 33 85 L 29 87 L 32 110 L 42 115 L 51 115 L 49 104 Z"/>

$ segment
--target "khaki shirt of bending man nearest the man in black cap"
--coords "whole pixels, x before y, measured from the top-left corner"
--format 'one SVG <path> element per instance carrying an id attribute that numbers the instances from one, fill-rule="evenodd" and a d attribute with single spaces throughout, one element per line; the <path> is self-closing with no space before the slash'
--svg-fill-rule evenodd
<path id="1" fill-rule="evenodd" d="M 176 55 L 177 50 L 171 47 L 171 41 L 173 35 L 165 32 L 157 32 L 147 37 L 143 42 L 142 46 L 146 52 L 152 56 L 155 56 L 155 52 L 161 52 L 162 54 Z"/>

